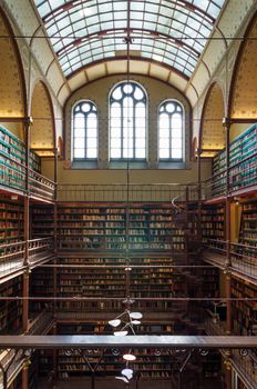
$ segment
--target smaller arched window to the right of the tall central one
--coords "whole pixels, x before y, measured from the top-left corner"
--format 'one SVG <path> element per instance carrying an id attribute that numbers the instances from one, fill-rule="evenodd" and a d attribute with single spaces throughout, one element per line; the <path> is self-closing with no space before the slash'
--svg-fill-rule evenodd
<path id="1" fill-rule="evenodd" d="M 183 160 L 184 109 L 174 100 L 166 100 L 158 110 L 158 159 Z"/>

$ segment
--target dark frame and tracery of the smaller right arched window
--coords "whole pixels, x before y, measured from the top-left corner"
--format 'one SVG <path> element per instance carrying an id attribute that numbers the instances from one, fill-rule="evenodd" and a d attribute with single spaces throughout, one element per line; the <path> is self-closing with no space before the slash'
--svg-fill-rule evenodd
<path id="1" fill-rule="evenodd" d="M 173 113 L 169 113 L 169 112 L 166 112 L 168 114 L 168 122 L 169 122 L 169 127 L 168 127 L 168 132 L 169 132 L 169 138 L 168 138 L 168 141 L 169 141 L 169 149 L 168 149 L 168 153 L 169 153 L 169 157 L 167 158 L 161 158 L 160 157 L 160 130 L 161 130 L 161 126 L 160 126 L 160 116 L 161 116 L 161 108 L 167 103 L 175 103 L 175 106 L 177 107 L 181 107 L 181 118 L 182 118 L 182 158 L 172 158 L 172 150 L 173 150 L 173 147 L 172 147 L 172 124 L 171 124 L 171 120 L 172 120 L 172 116 L 174 113 L 178 113 L 176 110 L 175 112 Z M 185 163 L 185 108 L 184 108 L 184 104 L 179 101 L 179 100 L 176 100 L 176 99 L 165 99 L 163 100 L 160 104 L 158 104 L 158 110 L 157 110 L 157 158 L 158 158 L 158 163 Z"/>

